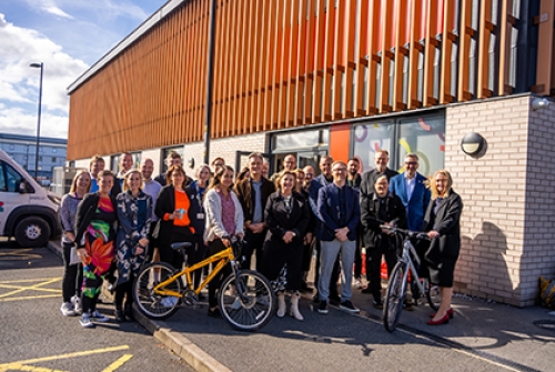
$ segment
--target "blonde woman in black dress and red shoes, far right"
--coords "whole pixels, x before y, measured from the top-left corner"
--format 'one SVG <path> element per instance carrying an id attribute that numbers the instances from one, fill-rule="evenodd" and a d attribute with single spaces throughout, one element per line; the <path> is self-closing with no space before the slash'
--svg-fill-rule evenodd
<path id="1" fill-rule="evenodd" d="M 454 316 L 451 308 L 453 273 L 461 250 L 461 213 L 463 201 L 452 189 L 453 179 L 446 170 L 438 170 L 430 180 L 432 200 L 424 215 L 423 230 L 432 240 L 424 254 L 432 283 L 440 286 L 442 302 L 432 314 L 430 325 L 448 323 Z"/>

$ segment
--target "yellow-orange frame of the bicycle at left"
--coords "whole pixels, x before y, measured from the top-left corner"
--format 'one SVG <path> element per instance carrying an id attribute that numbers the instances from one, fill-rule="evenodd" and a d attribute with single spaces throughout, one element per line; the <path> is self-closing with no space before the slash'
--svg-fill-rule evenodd
<path id="1" fill-rule="evenodd" d="M 204 281 L 199 285 L 199 288 L 196 290 L 194 290 L 195 295 L 199 295 L 199 293 L 204 289 L 204 286 L 206 286 L 208 283 L 210 283 L 210 281 L 215 275 L 218 275 L 220 273 L 220 271 L 223 269 L 223 267 L 225 267 L 229 262 L 231 262 L 233 267 L 235 265 L 235 255 L 233 254 L 233 248 L 230 247 L 230 248 L 228 248 L 221 252 L 218 252 L 218 253 L 215 253 L 215 254 L 213 254 L 213 255 L 204 259 L 203 261 L 195 263 L 191 267 L 185 265 L 185 268 L 182 269 L 180 272 L 173 274 L 168 280 L 157 284 L 153 288 L 154 293 L 161 294 L 161 295 L 172 295 L 172 296 L 176 296 L 176 298 L 182 298 L 183 293 L 179 293 L 179 292 L 175 292 L 172 290 L 167 290 L 165 286 L 173 283 L 179 278 L 185 275 L 185 278 L 186 278 L 186 288 L 185 289 L 190 289 L 190 285 L 192 283 L 191 273 L 194 272 L 195 270 L 208 267 L 209 264 L 211 264 L 213 262 L 218 262 L 218 264 L 212 270 L 212 272 L 210 272 L 210 274 L 206 277 L 206 279 L 204 279 Z"/>

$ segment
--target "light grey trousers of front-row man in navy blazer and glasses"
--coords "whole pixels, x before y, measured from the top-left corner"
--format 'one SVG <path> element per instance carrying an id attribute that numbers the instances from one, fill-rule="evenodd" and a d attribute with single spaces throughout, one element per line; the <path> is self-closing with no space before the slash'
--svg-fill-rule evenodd
<path id="1" fill-rule="evenodd" d="M 351 282 L 353 280 L 353 262 L 356 250 L 354 240 L 344 242 L 337 239 L 331 242 L 321 241 L 320 252 L 320 279 L 317 281 L 317 293 L 320 301 L 327 301 L 330 295 L 330 280 L 333 271 L 333 264 L 337 254 L 341 252 L 341 302 L 351 300 L 353 295 Z"/>

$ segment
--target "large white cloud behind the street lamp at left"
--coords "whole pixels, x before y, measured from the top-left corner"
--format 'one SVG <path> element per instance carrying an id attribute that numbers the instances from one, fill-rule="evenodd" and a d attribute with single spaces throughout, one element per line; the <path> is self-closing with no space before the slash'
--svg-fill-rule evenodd
<path id="1" fill-rule="evenodd" d="M 46 36 L 13 26 L 2 13 L 0 50 L 0 103 L 4 107 L 0 110 L 0 131 L 13 132 L 16 129 L 22 134 L 34 133 L 36 113 L 33 118 L 23 109 L 36 105 L 39 95 L 40 72 L 29 64 L 43 62 L 44 131 L 41 131 L 41 135 L 67 137 L 69 97 L 65 88 L 88 69 L 87 63 L 64 53 L 59 44 Z M 62 125 L 60 113 L 65 115 Z"/>

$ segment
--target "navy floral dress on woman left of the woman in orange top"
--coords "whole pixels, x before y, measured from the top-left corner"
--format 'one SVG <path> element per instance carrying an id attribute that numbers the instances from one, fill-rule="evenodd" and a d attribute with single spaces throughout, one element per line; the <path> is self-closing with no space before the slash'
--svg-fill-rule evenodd
<path id="1" fill-rule="evenodd" d="M 118 195 L 118 285 L 137 275 L 144 262 L 145 250 L 135 255 L 135 248 L 142 238 L 148 238 L 152 218 L 152 198 L 140 191 L 133 197 L 131 191 Z"/>

